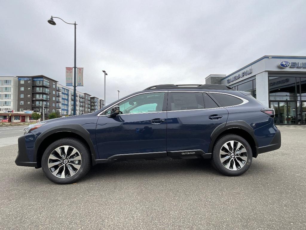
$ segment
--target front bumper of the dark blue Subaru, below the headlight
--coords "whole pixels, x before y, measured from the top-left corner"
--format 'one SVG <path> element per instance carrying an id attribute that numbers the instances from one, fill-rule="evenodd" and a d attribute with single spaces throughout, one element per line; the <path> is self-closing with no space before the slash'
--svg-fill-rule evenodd
<path id="1" fill-rule="evenodd" d="M 18 155 L 15 160 L 18 166 L 37 167 L 37 162 L 33 161 L 36 138 L 37 137 L 31 133 L 18 138 Z"/>

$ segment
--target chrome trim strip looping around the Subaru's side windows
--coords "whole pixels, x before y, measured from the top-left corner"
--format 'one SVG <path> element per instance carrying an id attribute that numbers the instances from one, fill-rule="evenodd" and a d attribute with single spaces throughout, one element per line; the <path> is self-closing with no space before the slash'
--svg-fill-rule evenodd
<path id="1" fill-rule="evenodd" d="M 131 97 L 134 97 L 134 96 L 137 96 L 137 95 L 140 95 L 140 94 L 148 94 L 148 93 L 157 93 L 157 92 L 193 92 L 193 93 L 213 93 L 213 94 L 227 94 L 227 95 L 230 95 L 230 96 L 233 96 L 235 98 L 238 98 L 240 100 L 242 100 L 242 103 L 239 104 L 239 105 L 243 105 L 243 104 L 246 104 L 248 103 L 249 101 L 247 99 L 244 99 L 244 98 L 241 98 L 239 96 L 236 96 L 236 95 L 233 95 L 233 94 L 228 94 L 228 93 L 223 93 L 223 92 L 211 92 L 211 91 L 194 91 L 194 90 L 166 90 L 166 91 L 151 91 L 151 92 L 142 92 L 142 93 L 139 93 L 139 94 L 134 94 L 128 98 L 125 98 L 123 100 L 121 100 L 120 102 L 123 102 L 125 101 L 126 99 L 129 99 Z M 111 108 L 112 106 L 114 105 L 117 105 L 118 103 L 120 102 L 117 102 L 116 104 L 113 104 L 111 106 L 109 106 L 107 109 Z M 204 104 L 205 106 L 205 104 Z M 238 106 L 238 105 L 231 105 L 231 106 L 223 106 L 223 107 L 217 107 L 217 108 L 209 108 L 209 109 L 219 109 L 219 108 L 229 108 L 229 107 L 233 107 L 233 106 Z M 107 109 L 104 109 L 101 113 L 104 113 Z M 205 109 L 186 109 L 186 110 L 171 110 L 171 111 L 161 111 L 161 112 L 148 112 L 148 113 L 163 113 L 163 112 L 179 112 L 179 111 L 192 111 L 192 110 L 205 110 Z M 102 116 L 107 116 L 107 114 L 105 115 L 100 115 L 101 113 L 98 114 L 99 117 L 102 117 Z M 128 115 L 128 114 L 145 114 L 145 113 L 126 113 L 126 114 L 121 114 L 121 115 Z"/>

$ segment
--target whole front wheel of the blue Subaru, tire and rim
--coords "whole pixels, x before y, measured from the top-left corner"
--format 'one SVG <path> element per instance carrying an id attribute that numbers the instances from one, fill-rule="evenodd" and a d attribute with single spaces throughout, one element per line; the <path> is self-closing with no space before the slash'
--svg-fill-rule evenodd
<path id="1" fill-rule="evenodd" d="M 41 164 L 43 172 L 52 182 L 74 183 L 89 171 L 90 151 L 82 141 L 76 138 L 63 138 L 47 147 Z"/>

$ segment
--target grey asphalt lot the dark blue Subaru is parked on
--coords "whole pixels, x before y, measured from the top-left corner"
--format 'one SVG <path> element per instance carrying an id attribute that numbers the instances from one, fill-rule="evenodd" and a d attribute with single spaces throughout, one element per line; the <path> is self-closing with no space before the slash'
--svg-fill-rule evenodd
<path id="1" fill-rule="evenodd" d="M 239 177 L 205 160 L 119 162 L 57 185 L 0 147 L 0 229 L 305 229 L 306 128 L 279 129 L 282 147 Z"/>

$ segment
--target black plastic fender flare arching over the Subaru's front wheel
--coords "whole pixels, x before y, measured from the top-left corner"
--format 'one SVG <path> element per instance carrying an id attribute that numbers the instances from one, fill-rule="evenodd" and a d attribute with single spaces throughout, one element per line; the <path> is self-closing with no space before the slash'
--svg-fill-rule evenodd
<path id="1" fill-rule="evenodd" d="M 84 138 L 84 140 L 87 142 L 90 148 L 90 151 L 91 151 L 92 163 L 95 164 L 96 151 L 90 139 L 90 133 L 82 125 L 79 125 L 79 124 L 68 124 L 68 125 L 55 126 L 55 127 L 48 128 L 47 130 L 42 132 L 37 137 L 37 140 L 35 141 L 33 159 L 35 160 L 37 159 L 37 152 L 43 140 L 45 140 L 46 138 L 48 138 L 48 136 L 54 133 L 57 133 L 57 132 L 72 132 Z"/>

